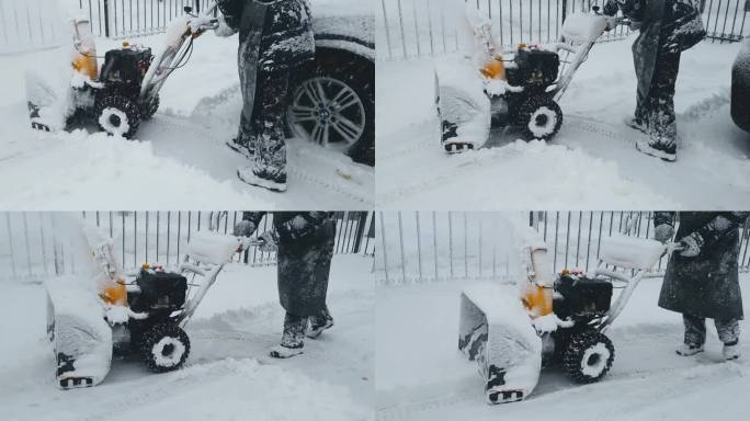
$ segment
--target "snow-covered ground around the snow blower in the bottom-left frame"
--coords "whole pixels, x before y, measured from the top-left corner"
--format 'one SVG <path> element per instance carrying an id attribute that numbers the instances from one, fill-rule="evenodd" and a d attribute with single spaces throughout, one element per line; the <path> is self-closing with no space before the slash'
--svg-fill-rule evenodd
<path id="1" fill-rule="evenodd" d="M 225 269 L 188 326 L 183 369 L 114 361 L 94 388 L 55 387 L 39 284 L 2 283 L 0 408 L 4 420 L 367 420 L 374 406 L 372 258 L 337 255 L 328 304 L 336 326 L 305 353 L 268 356 L 283 323 L 275 268 Z"/>

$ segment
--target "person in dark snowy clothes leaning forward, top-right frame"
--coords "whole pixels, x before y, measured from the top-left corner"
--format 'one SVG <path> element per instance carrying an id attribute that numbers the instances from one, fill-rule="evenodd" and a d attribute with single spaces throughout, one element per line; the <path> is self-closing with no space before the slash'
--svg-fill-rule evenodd
<path id="1" fill-rule="evenodd" d="M 674 86 L 681 53 L 706 36 L 700 0 L 609 0 L 604 13 L 622 11 L 639 31 L 633 44 L 638 79 L 635 116 L 627 125 L 648 135 L 636 140 L 644 153 L 677 160 Z"/>

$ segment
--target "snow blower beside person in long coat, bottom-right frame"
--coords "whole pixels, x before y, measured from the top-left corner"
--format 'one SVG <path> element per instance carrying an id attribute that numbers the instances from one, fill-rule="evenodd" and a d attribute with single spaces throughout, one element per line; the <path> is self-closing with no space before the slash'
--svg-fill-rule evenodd
<path id="1" fill-rule="evenodd" d="M 555 278 L 546 247 L 526 249 L 527 280 L 518 289 L 478 284 L 461 296 L 458 349 L 476 361 L 488 403 L 525 399 L 542 367 L 560 364 L 576 383 L 600 380 L 615 351 L 606 329 L 638 283 L 677 244 L 615 236 L 602 240 L 593 273 L 562 271 Z M 628 273 L 632 276 L 628 276 Z M 614 283 L 624 284 L 612 303 Z"/>

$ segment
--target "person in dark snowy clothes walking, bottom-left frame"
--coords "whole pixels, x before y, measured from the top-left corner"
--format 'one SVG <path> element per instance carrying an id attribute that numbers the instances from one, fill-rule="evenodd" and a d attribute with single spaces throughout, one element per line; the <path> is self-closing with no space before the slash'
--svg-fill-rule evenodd
<path id="1" fill-rule="evenodd" d="M 265 214 L 246 212 L 235 236 L 250 237 Z M 286 316 L 281 344 L 270 355 L 287 359 L 303 352 L 305 335 L 318 338 L 333 326 L 326 296 L 336 223 L 326 212 L 274 212 L 273 230 L 259 238 L 277 246 L 279 299 Z"/>

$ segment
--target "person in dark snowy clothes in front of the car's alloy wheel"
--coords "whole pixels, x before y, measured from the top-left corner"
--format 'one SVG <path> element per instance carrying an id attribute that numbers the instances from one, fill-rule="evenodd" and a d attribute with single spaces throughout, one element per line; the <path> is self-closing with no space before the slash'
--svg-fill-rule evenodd
<path id="1" fill-rule="evenodd" d="M 289 76 L 315 57 L 308 0 L 218 0 L 219 36 L 239 32 L 242 113 L 237 137 L 229 147 L 252 164 L 240 168 L 243 182 L 286 190 L 284 114 Z"/>

